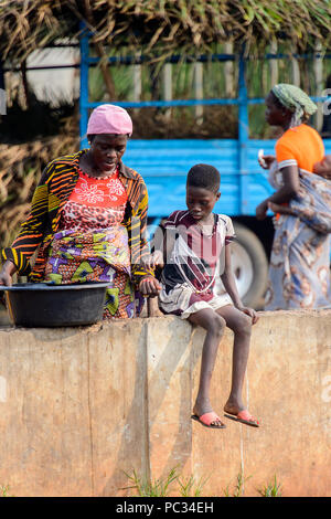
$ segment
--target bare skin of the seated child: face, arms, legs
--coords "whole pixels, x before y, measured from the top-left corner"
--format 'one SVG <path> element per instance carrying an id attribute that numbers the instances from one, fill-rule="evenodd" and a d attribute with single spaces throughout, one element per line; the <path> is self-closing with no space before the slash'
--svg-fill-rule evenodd
<path id="1" fill-rule="evenodd" d="M 213 225 L 214 216 L 212 211 L 220 199 L 220 192 L 186 186 L 188 210 L 197 225 L 206 226 L 206 229 Z M 154 245 L 156 247 L 159 247 L 159 250 L 156 250 L 149 261 L 146 262 L 146 265 L 148 267 L 163 265 L 167 262 L 167 258 L 170 257 L 170 252 L 174 244 L 173 240 L 172 235 L 168 235 L 167 239 L 163 239 L 163 243 L 161 240 L 156 242 Z M 188 318 L 188 320 L 193 325 L 201 326 L 206 330 L 201 360 L 199 391 L 193 406 L 193 412 L 197 416 L 212 412 L 213 410 L 210 401 L 211 380 L 218 345 L 226 326 L 234 331 L 234 350 L 232 386 L 224 411 L 229 414 L 237 414 L 239 411 L 245 410 L 242 391 L 248 361 L 250 329 L 252 325 L 257 322 L 258 316 L 255 310 L 245 307 L 241 301 L 231 266 L 229 245 L 225 247 L 224 260 L 225 266 L 221 279 L 227 294 L 233 300 L 233 305 L 223 306 L 217 310 L 204 308 L 190 315 Z M 220 428 L 224 426 L 220 419 L 213 421 L 212 424 Z"/>

